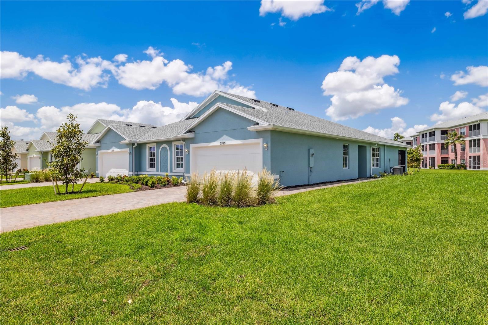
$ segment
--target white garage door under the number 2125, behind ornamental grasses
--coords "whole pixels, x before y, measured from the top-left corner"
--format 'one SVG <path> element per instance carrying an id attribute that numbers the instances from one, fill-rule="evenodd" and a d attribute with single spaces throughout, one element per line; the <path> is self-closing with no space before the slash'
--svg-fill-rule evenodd
<path id="1" fill-rule="evenodd" d="M 197 144 L 195 147 L 192 146 L 191 152 L 191 172 L 198 172 L 200 175 L 214 168 L 218 172 L 247 168 L 254 174 L 263 169 L 263 149 L 260 139 L 244 143 L 232 141 L 204 146 Z"/>

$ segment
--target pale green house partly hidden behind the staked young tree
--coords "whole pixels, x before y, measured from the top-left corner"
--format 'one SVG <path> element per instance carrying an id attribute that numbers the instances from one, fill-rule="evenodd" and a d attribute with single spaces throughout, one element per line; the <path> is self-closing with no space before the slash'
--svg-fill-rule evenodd
<path id="1" fill-rule="evenodd" d="M 94 173 L 96 170 L 96 149 L 90 147 L 98 134 L 83 134 L 83 141 L 88 142 L 88 146 L 81 154 L 80 168 L 85 169 L 85 173 Z M 27 145 L 27 169 L 38 170 L 47 168 L 47 163 L 52 162 L 52 144 L 56 143 L 56 132 L 44 132 L 39 140 L 31 140 Z"/>

